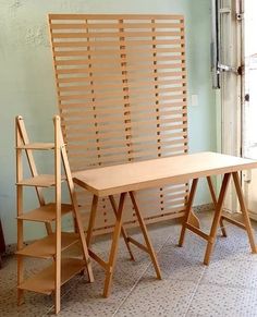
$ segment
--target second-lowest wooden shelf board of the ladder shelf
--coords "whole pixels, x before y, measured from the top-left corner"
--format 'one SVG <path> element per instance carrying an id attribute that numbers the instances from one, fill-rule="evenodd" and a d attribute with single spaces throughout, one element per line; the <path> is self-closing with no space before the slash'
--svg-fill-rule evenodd
<path id="1" fill-rule="evenodd" d="M 79 235 L 77 233 L 62 232 L 62 251 L 66 249 L 69 246 L 72 246 L 78 241 Z M 51 258 L 56 254 L 56 233 L 52 233 L 25 246 L 23 249 L 17 251 L 16 254 L 30 257 Z"/>

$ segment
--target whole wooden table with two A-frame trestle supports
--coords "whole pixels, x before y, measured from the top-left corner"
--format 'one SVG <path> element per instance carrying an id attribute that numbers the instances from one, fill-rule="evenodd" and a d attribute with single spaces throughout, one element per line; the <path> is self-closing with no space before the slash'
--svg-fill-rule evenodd
<path id="1" fill-rule="evenodd" d="M 244 197 L 241 190 L 238 171 L 244 169 L 257 168 L 257 161 L 248 159 L 216 154 L 216 153 L 199 153 L 193 155 L 184 155 L 169 158 L 159 158 L 155 160 L 147 160 L 142 162 L 132 162 L 126 164 L 119 164 L 113 167 L 106 167 L 101 169 L 94 169 L 88 171 L 81 171 L 73 174 L 74 182 L 86 188 L 94 194 L 91 204 L 90 220 L 87 231 L 87 243 L 91 242 L 91 233 L 94 229 L 94 222 L 96 218 L 97 202 L 99 197 L 109 196 L 113 200 L 113 195 L 120 195 L 119 208 L 117 210 L 115 228 L 112 235 L 112 245 L 108 261 L 103 261 L 99 258 L 90 248 L 90 256 L 100 264 L 106 270 L 106 283 L 103 295 L 108 296 L 110 292 L 110 284 L 114 271 L 115 257 L 119 244 L 119 236 L 121 230 L 123 230 L 123 237 L 126 243 L 135 244 L 145 252 L 149 253 L 151 261 L 155 266 L 157 277 L 160 278 L 160 270 L 158 261 L 155 256 L 155 252 L 151 247 L 144 219 L 139 211 L 139 206 L 136 203 L 137 193 L 150 187 L 164 186 L 167 184 L 185 183 L 193 180 L 189 197 L 186 204 L 185 217 L 182 225 L 180 245 L 182 246 L 184 241 L 184 234 L 186 230 L 191 230 L 207 241 L 207 249 L 204 263 L 209 264 L 212 246 L 216 241 L 217 228 L 219 223 L 222 225 L 223 220 L 228 220 L 233 224 L 236 224 L 247 231 L 252 251 L 256 253 L 256 245 L 254 242 L 254 235 L 245 206 Z M 219 197 L 216 198 L 213 186 L 211 183 L 212 175 L 223 175 L 221 191 Z M 234 221 L 228 216 L 222 216 L 222 205 L 225 197 L 229 181 L 233 178 L 235 183 L 236 194 L 240 200 L 243 222 Z M 207 178 L 210 188 L 211 197 L 215 203 L 216 211 L 211 225 L 210 233 L 207 234 L 199 229 L 199 221 L 193 212 L 193 203 L 197 188 L 197 182 L 199 178 Z M 124 234 L 124 228 L 122 227 L 122 216 L 124 214 L 123 206 L 126 194 L 130 195 L 135 208 L 135 212 L 144 233 L 146 246 L 136 242 L 133 237 Z M 223 234 L 225 231 L 223 229 Z"/>

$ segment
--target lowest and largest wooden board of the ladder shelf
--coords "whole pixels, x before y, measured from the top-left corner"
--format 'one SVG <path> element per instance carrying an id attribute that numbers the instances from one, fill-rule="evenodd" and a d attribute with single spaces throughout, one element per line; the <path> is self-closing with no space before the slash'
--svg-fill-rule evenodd
<path id="1" fill-rule="evenodd" d="M 77 258 L 63 258 L 61 260 L 61 284 L 64 284 L 72 277 L 85 268 L 85 261 Z M 34 277 L 17 285 L 21 290 L 50 295 L 54 290 L 54 263 L 38 272 Z"/>

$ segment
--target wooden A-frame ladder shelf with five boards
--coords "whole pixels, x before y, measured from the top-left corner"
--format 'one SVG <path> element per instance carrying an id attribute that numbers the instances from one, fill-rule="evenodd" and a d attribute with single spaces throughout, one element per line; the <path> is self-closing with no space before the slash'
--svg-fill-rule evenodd
<path id="1" fill-rule="evenodd" d="M 61 285 L 74 275 L 83 271 L 88 272 L 89 281 L 94 281 L 89 261 L 83 225 L 77 209 L 74 192 L 74 184 L 66 158 L 63 143 L 60 118 L 54 117 L 54 143 L 29 143 L 22 117 L 16 118 L 16 197 L 17 197 L 17 301 L 23 303 L 24 290 L 42 294 L 54 292 L 54 310 L 60 310 Z M 54 174 L 40 175 L 37 173 L 33 150 L 52 150 L 54 155 Z M 32 178 L 23 176 L 23 153 L 26 154 Z M 61 164 L 65 172 L 61 176 Z M 71 204 L 61 204 L 61 182 L 66 181 Z M 34 186 L 39 202 L 39 207 L 24 212 L 23 210 L 23 187 Z M 54 203 L 47 204 L 42 188 L 54 186 Z M 61 217 L 72 212 L 77 232 L 62 232 Z M 24 245 L 24 221 L 45 222 L 47 236 L 27 246 Z M 51 222 L 54 221 L 56 229 L 52 230 Z M 83 258 L 62 258 L 62 251 L 81 243 Z M 42 271 L 24 279 L 24 257 L 52 258 L 53 263 Z"/>

